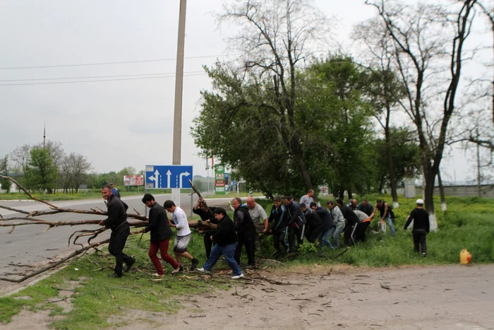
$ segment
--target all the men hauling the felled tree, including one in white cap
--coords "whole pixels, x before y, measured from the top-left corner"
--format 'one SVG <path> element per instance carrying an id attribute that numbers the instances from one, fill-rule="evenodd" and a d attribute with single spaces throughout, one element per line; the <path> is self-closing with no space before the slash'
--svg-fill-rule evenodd
<path id="1" fill-rule="evenodd" d="M 392 206 L 381 199 L 378 199 L 375 206 L 369 204 L 366 199 L 363 199 L 361 204 L 357 204 L 356 199 L 352 199 L 349 205 L 343 204 L 342 199 L 337 199 L 336 202 L 328 201 L 326 209 L 315 203 L 313 195 L 314 191 L 309 190 L 299 202 L 295 201 L 293 196 L 283 198 L 277 196 L 273 201 L 269 216 L 260 204 L 255 203 L 253 197 L 248 197 L 246 204 L 242 204 L 241 199 L 235 197 L 231 201 L 231 208 L 234 211 L 233 219 L 229 218 L 224 208 L 209 207 L 203 199 L 199 199 L 193 206 L 193 212 L 198 214 L 201 220 L 215 224 L 216 228 L 212 226 L 211 230 L 200 231 L 204 235 L 207 261 L 202 268 L 197 270 L 210 271 L 219 257 L 223 256 L 234 273 L 232 278 L 242 278 L 240 265 L 243 247 L 245 247 L 248 260 L 246 267 L 253 267 L 255 266 L 255 250 L 260 246 L 259 240 L 267 235 L 273 236 L 277 254 L 295 251 L 303 244 L 304 237 L 310 243 L 318 241 L 320 249 L 323 247 L 339 248 L 339 237 L 342 232 L 344 244 L 347 246 L 365 242 L 366 230 L 378 211 L 380 231 L 386 231 L 387 223 L 390 226 L 391 235 L 395 235 Z M 123 263 L 126 264 L 125 271 L 129 271 L 135 263 L 133 257 L 123 253 L 123 247 L 130 234 L 126 214 L 127 206 L 114 195 L 110 186 L 102 188 L 102 196 L 107 201 L 108 218 L 102 220 L 100 225 L 112 230 L 108 249 L 116 259 L 112 276 L 118 278 L 122 276 Z M 164 206 L 160 206 L 151 194 L 145 194 L 142 201 L 150 208 L 149 224 L 142 232 L 150 232 L 148 255 L 157 270 L 154 275 L 164 276 L 161 261 L 157 257 L 158 251 L 162 259 L 172 266 L 171 273 L 183 270 L 182 257 L 191 260 L 191 270 L 196 269 L 199 264 L 198 259 L 187 252 L 191 230 L 186 213 L 176 206 L 174 201 L 165 201 Z M 423 210 L 421 199 L 418 199 L 416 204 L 417 208 L 407 218 L 404 230 L 414 220 L 414 249 L 418 252 L 420 244 L 423 257 L 426 257 L 426 234 L 429 231 L 428 213 Z M 171 213 L 171 220 L 168 219 L 165 209 Z M 171 227 L 176 228 L 173 249 L 175 259 L 168 254 L 169 240 L 173 235 Z M 333 243 L 330 242 L 330 237 Z"/>

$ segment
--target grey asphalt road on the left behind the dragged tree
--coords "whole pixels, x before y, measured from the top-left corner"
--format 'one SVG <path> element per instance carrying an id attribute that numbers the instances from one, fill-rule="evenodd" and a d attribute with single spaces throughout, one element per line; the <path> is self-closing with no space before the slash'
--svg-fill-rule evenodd
<path id="1" fill-rule="evenodd" d="M 233 196 L 232 196 L 233 197 Z M 193 195 L 193 203 L 197 201 L 197 196 Z M 145 206 L 141 201 L 142 196 L 123 196 L 122 200 L 128 204 L 128 213 L 135 213 L 133 209 L 139 213 L 145 212 Z M 165 200 L 171 199 L 171 194 L 162 194 L 155 196 L 156 201 L 159 204 L 163 204 Z M 212 199 L 209 201 L 210 205 L 214 206 L 227 206 L 228 201 L 231 199 Z M 206 199 L 207 200 L 207 199 Z M 106 210 L 103 199 L 85 199 L 80 201 L 57 201 L 52 204 L 64 208 L 76 208 L 80 210 L 90 210 L 90 208 L 99 207 L 102 210 Z M 49 208 L 41 203 L 33 201 L 0 201 L 0 206 L 8 206 L 11 208 L 17 208 L 23 211 L 36 211 L 36 210 L 49 210 Z M 191 213 L 191 196 L 188 194 L 181 194 L 181 208 L 189 216 Z M 4 217 L 11 217 L 20 215 L 13 211 L 7 211 L 0 208 L 0 214 Z M 61 220 L 103 220 L 105 217 L 92 216 L 76 213 L 60 213 L 52 216 L 42 216 L 43 220 L 61 221 Z M 13 220 L 13 222 L 19 220 Z M 77 227 L 62 226 L 58 228 L 51 228 L 47 230 L 47 226 L 44 225 L 25 225 L 16 227 L 11 233 L 8 232 L 11 227 L 0 228 L 0 277 L 12 277 L 18 278 L 18 274 L 30 273 L 32 266 L 45 266 L 47 263 L 57 255 L 69 254 L 76 250 L 79 246 L 71 245 L 68 247 L 68 237 L 76 230 L 93 230 L 100 228 L 99 225 L 78 225 Z M 47 230 L 47 231 L 45 231 Z M 98 242 L 100 240 L 106 240 L 110 235 L 110 231 L 107 230 L 98 235 L 97 239 L 92 242 Z M 87 242 L 87 238 L 82 237 L 80 242 Z M 0 287 L 5 285 L 4 281 L 0 281 Z M 1 291 L 1 288 L 0 288 Z"/>

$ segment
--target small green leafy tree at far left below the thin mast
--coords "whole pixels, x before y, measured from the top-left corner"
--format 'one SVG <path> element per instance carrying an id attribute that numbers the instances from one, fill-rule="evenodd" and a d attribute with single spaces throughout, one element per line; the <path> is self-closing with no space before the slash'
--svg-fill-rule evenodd
<path id="1" fill-rule="evenodd" d="M 27 167 L 27 179 L 32 189 L 42 189 L 52 193 L 57 169 L 48 149 L 33 147 Z"/>

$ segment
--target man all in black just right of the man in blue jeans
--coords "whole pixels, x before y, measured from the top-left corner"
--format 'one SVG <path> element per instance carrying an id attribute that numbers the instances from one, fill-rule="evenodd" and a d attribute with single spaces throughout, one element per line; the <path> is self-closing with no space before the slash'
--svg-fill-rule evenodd
<path id="1" fill-rule="evenodd" d="M 248 208 L 242 206 L 242 200 L 239 197 L 235 197 L 231 201 L 231 206 L 234 208 L 234 222 L 236 229 L 236 238 L 239 244 L 235 250 L 235 261 L 240 265 L 240 256 L 242 253 L 242 247 L 245 244 L 246 253 L 249 266 L 255 266 L 255 226 L 248 213 Z"/>

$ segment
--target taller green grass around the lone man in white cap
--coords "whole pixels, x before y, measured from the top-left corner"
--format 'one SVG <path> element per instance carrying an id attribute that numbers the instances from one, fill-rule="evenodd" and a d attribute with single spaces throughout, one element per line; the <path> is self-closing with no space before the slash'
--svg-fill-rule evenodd
<path id="1" fill-rule="evenodd" d="M 374 201 L 383 196 L 367 196 Z M 390 196 L 384 196 L 391 202 Z M 327 199 L 321 200 L 325 205 Z M 268 201 L 258 201 L 260 204 L 270 204 Z M 370 230 L 377 230 L 377 220 L 374 218 L 367 232 L 368 241 L 357 244 L 342 257 L 330 261 L 332 257 L 342 252 L 342 249 L 323 252 L 307 252 L 286 263 L 286 267 L 301 264 L 350 264 L 353 266 L 399 266 L 408 264 L 457 264 L 459 252 L 468 249 L 476 263 L 494 262 L 494 200 L 473 198 L 447 198 L 448 209 L 440 211 L 440 201 L 435 200 L 438 231 L 430 232 L 427 236 L 428 256 L 414 253 L 411 230 L 404 232 L 406 216 L 415 207 L 415 199 L 399 199 L 399 208 L 394 209 L 396 222 L 394 228 L 396 237 L 391 237 L 389 228 L 387 234 L 372 235 Z M 263 251 L 267 256 L 274 252 L 272 239 L 263 242 Z M 340 240 L 341 242 L 341 240 Z"/>

